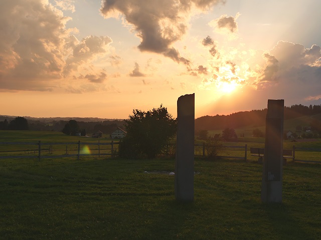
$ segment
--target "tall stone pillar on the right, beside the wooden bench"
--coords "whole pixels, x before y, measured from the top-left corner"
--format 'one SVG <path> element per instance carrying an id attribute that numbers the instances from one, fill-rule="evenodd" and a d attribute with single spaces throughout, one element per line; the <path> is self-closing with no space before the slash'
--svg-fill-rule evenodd
<path id="1" fill-rule="evenodd" d="M 282 202 L 284 100 L 268 100 L 261 200 Z"/>

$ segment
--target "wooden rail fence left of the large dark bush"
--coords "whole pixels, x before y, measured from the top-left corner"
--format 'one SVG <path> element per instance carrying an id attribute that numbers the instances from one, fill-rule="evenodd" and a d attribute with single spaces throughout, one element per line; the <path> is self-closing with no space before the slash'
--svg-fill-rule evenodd
<path id="1" fill-rule="evenodd" d="M 111 157 L 115 156 L 115 147 L 114 145 L 119 144 L 119 141 L 114 142 L 0 142 L 0 145 L 38 145 L 38 149 L 28 149 L 28 150 L 4 150 L 1 152 L 22 152 L 22 151 L 34 151 L 34 153 L 38 153 L 38 155 L 1 155 L 0 158 L 36 158 L 38 157 L 38 160 L 41 160 L 41 158 L 58 158 L 58 157 L 71 157 L 71 156 L 77 156 L 77 159 L 79 160 L 80 156 L 89 156 L 89 155 L 110 155 Z M 49 152 L 52 153 L 52 145 L 66 145 L 66 153 L 61 155 L 42 155 L 42 152 Z M 77 154 L 68 154 L 68 145 L 77 145 Z M 81 153 L 81 145 L 98 145 L 98 153 Z M 103 153 L 101 152 L 103 149 L 100 147 L 101 145 L 110 145 L 110 153 Z M 42 148 L 43 146 L 49 146 L 49 148 Z M 71 151 L 71 150 L 69 150 Z"/>

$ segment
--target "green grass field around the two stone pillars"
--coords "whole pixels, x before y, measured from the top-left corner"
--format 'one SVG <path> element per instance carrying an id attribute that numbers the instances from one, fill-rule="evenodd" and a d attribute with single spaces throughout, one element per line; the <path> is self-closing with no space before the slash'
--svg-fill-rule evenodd
<path id="1" fill-rule="evenodd" d="M 7 133 L 2 141 L 80 138 Z M 264 146 L 263 139 L 250 140 L 248 147 Z M 0 159 L 0 239 L 321 239 L 321 164 L 289 162 L 283 203 L 263 204 L 262 165 L 255 160 L 196 157 L 195 200 L 181 203 L 173 175 L 145 172 L 174 171 L 171 158 Z"/>

